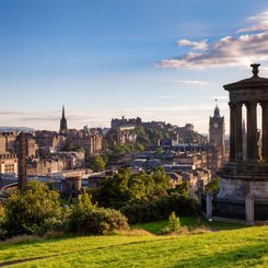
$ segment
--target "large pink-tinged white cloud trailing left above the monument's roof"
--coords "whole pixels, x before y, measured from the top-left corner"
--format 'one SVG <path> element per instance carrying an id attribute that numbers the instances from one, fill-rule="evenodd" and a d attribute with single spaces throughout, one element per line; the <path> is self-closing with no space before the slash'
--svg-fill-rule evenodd
<path id="1" fill-rule="evenodd" d="M 240 28 L 236 34 L 225 36 L 210 45 L 182 39 L 179 45 L 191 47 L 193 51 L 173 59 L 164 59 L 160 66 L 177 69 L 202 69 L 207 67 L 248 66 L 255 61 L 268 60 L 268 11 L 248 19 L 253 24 Z M 252 31 L 258 31 L 253 32 Z M 237 35 L 238 33 L 238 35 Z M 199 53 L 195 53 L 198 49 Z"/>

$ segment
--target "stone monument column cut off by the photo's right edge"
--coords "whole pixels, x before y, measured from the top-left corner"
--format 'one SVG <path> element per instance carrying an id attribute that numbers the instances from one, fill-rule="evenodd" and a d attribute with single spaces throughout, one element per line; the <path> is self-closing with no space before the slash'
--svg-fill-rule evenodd
<path id="1" fill-rule="evenodd" d="M 264 161 L 268 161 L 268 102 L 260 103 L 263 108 L 263 123 L 261 123 L 261 155 Z"/>

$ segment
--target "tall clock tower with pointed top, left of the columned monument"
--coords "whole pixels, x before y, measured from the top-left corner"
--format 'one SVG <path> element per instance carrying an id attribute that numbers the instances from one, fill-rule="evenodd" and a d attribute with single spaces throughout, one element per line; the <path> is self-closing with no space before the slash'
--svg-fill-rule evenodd
<path id="1" fill-rule="evenodd" d="M 221 154 L 225 154 L 225 123 L 224 116 L 220 115 L 218 104 L 215 104 L 214 115 L 209 118 L 209 140 L 220 149 Z"/>

